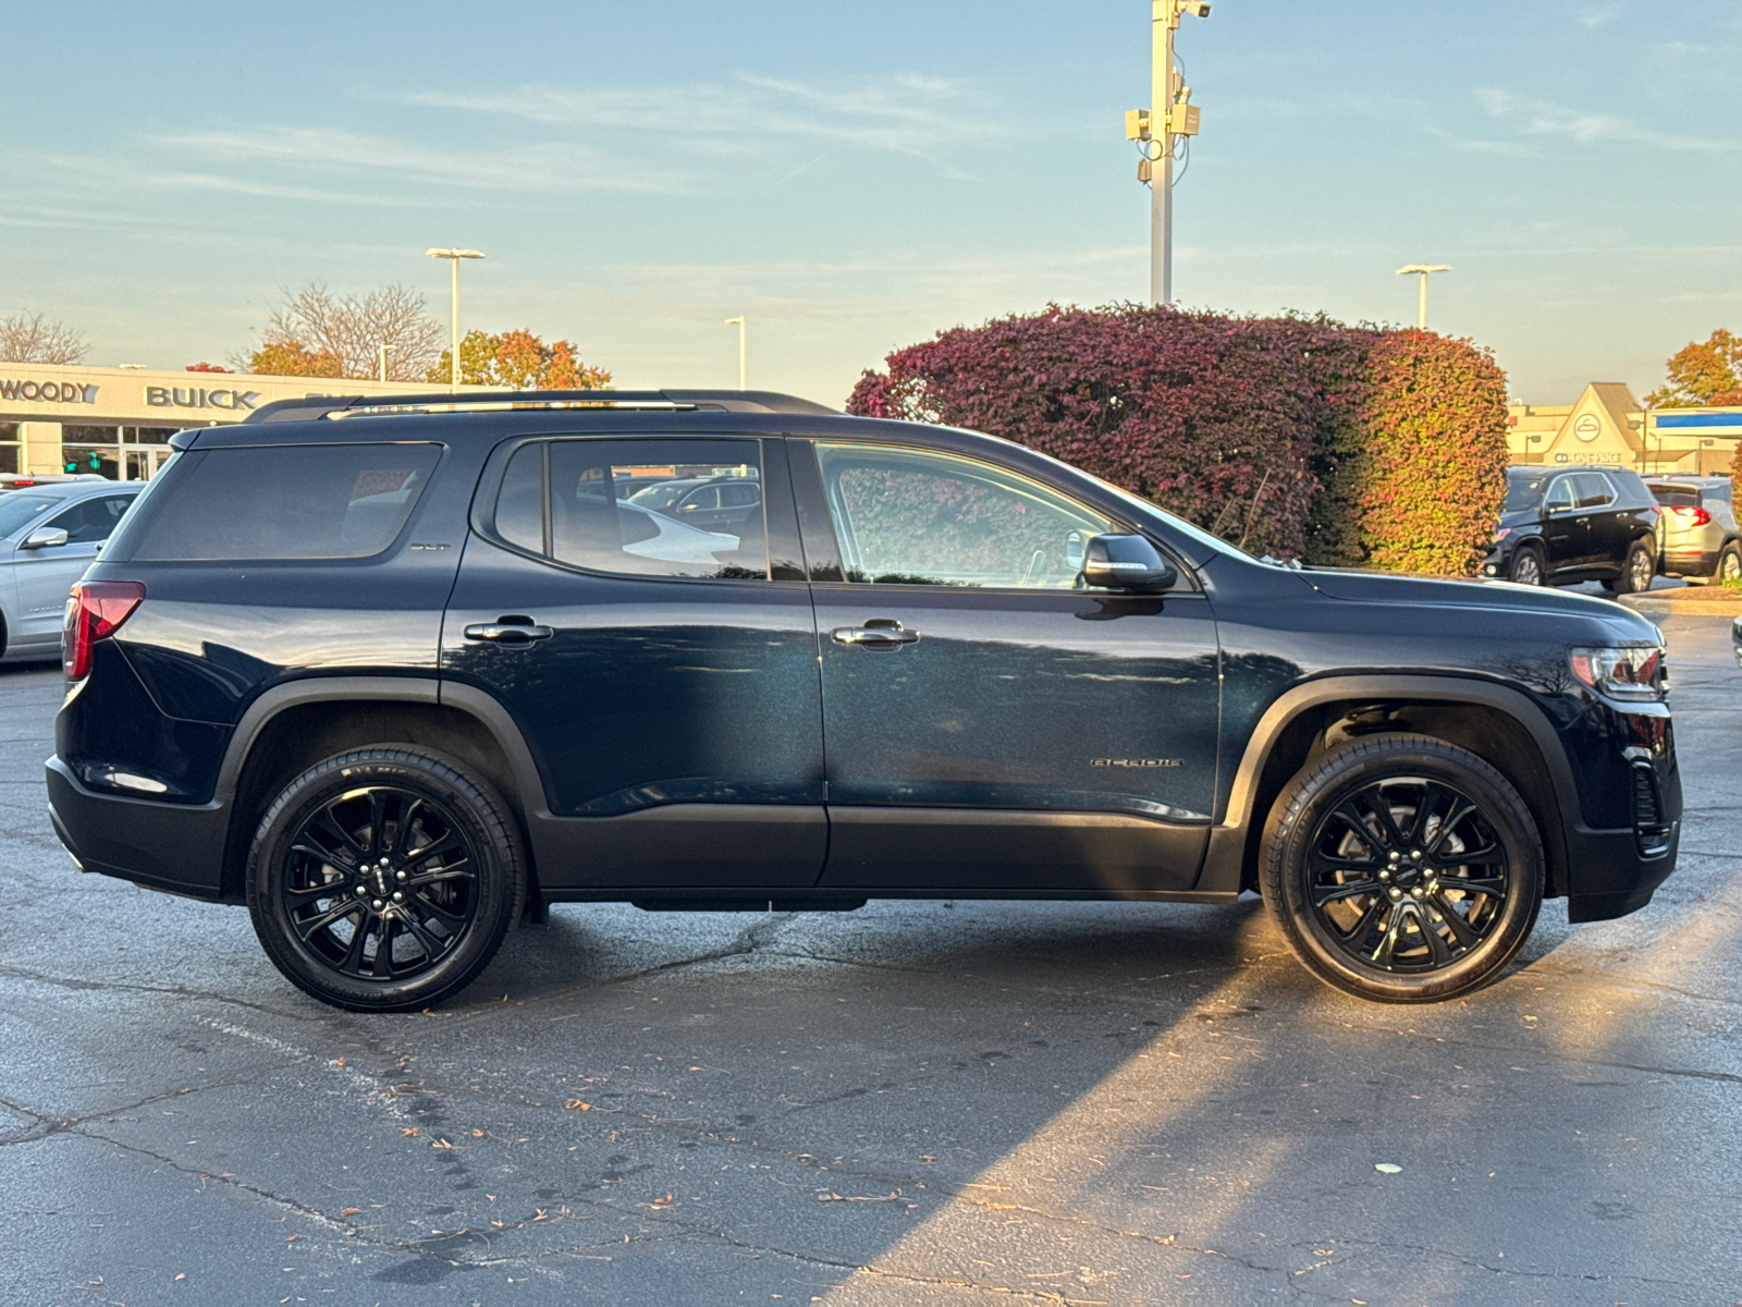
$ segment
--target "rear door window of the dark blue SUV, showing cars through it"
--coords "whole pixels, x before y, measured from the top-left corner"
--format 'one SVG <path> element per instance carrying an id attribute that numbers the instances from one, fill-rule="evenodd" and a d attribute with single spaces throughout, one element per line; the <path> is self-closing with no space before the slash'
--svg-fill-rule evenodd
<path id="1" fill-rule="evenodd" d="M 695 477 L 760 483 L 756 441 L 535 441 L 514 451 L 496 495 L 496 535 L 589 572 L 699 580 L 765 580 L 761 514 L 730 530 L 692 526 L 681 509 Z M 681 483 L 681 484 L 676 484 Z M 718 507 L 719 491 L 709 507 Z M 653 507 L 653 505 L 660 507 Z"/>

